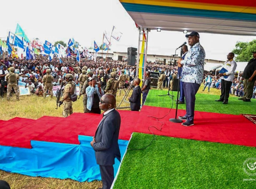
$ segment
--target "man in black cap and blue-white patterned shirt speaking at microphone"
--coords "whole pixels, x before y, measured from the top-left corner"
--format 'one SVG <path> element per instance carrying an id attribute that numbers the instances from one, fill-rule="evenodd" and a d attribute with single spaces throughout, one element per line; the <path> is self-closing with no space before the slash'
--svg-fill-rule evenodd
<path id="1" fill-rule="evenodd" d="M 188 45 L 191 46 L 185 59 L 178 59 L 178 67 L 183 67 L 182 82 L 186 100 L 186 115 L 179 116 L 180 120 L 186 120 L 183 126 L 194 125 L 194 111 L 196 102 L 196 93 L 203 82 L 204 75 L 204 48 L 200 45 L 199 34 L 196 31 L 186 35 Z"/>

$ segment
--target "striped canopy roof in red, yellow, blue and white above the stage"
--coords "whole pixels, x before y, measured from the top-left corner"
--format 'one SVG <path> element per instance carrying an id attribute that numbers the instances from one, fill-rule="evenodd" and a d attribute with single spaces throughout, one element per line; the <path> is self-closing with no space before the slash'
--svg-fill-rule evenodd
<path id="1" fill-rule="evenodd" d="M 256 0 L 119 1 L 142 28 L 256 35 Z"/>

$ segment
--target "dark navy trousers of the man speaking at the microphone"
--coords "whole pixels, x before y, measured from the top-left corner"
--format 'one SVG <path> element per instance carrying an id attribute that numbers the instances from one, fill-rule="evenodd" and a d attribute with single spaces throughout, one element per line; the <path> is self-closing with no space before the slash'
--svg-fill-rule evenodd
<path id="1" fill-rule="evenodd" d="M 188 123 L 194 123 L 195 115 L 195 102 L 196 93 L 200 85 L 197 83 L 187 83 L 183 82 L 184 94 L 186 99 L 186 117 Z"/>

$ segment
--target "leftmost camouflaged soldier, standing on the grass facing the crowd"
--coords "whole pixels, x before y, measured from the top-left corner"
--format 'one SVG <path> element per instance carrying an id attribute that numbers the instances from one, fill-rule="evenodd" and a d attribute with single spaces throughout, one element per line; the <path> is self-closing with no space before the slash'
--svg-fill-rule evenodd
<path id="1" fill-rule="evenodd" d="M 17 85 L 17 80 L 20 78 L 20 76 L 17 73 L 14 73 L 15 68 L 11 67 L 10 73 L 7 73 L 6 75 L 6 82 L 7 84 L 7 100 L 10 100 L 10 95 L 12 92 L 12 88 L 15 92 L 16 99 L 19 100 L 19 87 Z"/>

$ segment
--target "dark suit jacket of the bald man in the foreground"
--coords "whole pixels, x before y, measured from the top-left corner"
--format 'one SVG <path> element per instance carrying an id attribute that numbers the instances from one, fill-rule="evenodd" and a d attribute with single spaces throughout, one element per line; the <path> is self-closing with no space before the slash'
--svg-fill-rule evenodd
<path id="1" fill-rule="evenodd" d="M 118 146 L 118 137 L 121 124 L 121 117 L 118 111 L 112 110 L 99 123 L 95 133 L 96 162 L 98 165 L 114 165 L 115 158 L 121 161 L 121 154 Z"/>

